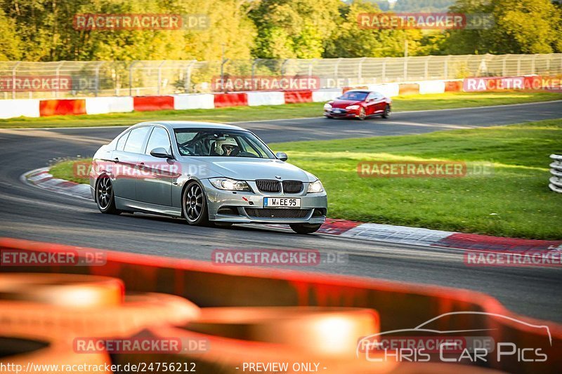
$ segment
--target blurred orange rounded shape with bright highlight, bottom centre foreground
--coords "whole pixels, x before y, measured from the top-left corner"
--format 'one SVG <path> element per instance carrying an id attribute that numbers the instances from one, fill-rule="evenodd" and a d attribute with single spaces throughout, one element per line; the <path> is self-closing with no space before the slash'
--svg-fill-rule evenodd
<path id="1" fill-rule="evenodd" d="M 360 338 L 379 333 L 379 316 L 373 309 L 359 308 L 203 308 L 199 318 L 185 328 L 353 359 Z"/>

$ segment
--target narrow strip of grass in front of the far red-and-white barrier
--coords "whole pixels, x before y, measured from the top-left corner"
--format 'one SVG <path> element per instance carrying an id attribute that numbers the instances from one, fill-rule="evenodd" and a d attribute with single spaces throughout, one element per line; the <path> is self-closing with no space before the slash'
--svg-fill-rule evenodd
<path id="1" fill-rule="evenodd" d="M 492 93 L 439 93 L 430 95 L 405 95 L 393 98 L 395 112 L 422 109 L 450 109 L 505 105 L 523 102 L 561 100 L 562 94 L 547 92 L 492 92 Z M 141 121 L 259 121 L 264 119 L 291 119 L 322 115 L 323 102 L 303 104 L 264 105 L 260 107 L 228 107 L 219 109 L 164 110 L 158 112 L 132 112 L 93 114 L 83 116 L 49 116 L 41 118 L 1 119 L 0 128 L 34 127 L 87 127 L 130 126 Z"/>

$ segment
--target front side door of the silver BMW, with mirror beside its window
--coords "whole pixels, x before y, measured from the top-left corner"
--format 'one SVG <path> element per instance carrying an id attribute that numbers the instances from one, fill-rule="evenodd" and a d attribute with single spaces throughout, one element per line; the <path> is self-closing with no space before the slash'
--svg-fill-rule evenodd
<path id="1" fill-rule="evenodd" d="M 141 173 L 136 180 L 138 201 L 171 206 L 171 187 L 178 176 L 178 161 L 151 156 L 156 148 L 164 148 L 171 153 L 171 138 L 166 128 L 154 126 L 148 138 L 145 152 L 139 156 L 138 165 Z"/>

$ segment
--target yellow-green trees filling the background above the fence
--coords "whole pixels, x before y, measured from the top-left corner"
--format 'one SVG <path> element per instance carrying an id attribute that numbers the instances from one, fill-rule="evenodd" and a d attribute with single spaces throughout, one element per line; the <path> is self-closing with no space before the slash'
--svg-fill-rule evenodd
<path id="1" fill-rule="evenodd" d="M 359 13 L 491 13 L 488 30 L 362 29 Z M 203 14 L 202 30 L 77 30 L 84 13 Z M 220 60 L 562 52 L 551 0 L 0 0 L 0 60 Z M 119 74 L 119 72 L 112 72 Z"/>

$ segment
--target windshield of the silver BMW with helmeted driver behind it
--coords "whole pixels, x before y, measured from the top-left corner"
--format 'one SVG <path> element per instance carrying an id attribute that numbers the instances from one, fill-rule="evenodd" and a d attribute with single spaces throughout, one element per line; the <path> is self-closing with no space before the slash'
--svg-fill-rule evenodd
<path id="1" fill-rule="evenodd" d="M 175 133 L 182 156 L 275 159 L 268 147 L 249 131 L 176 128 Z"/>

